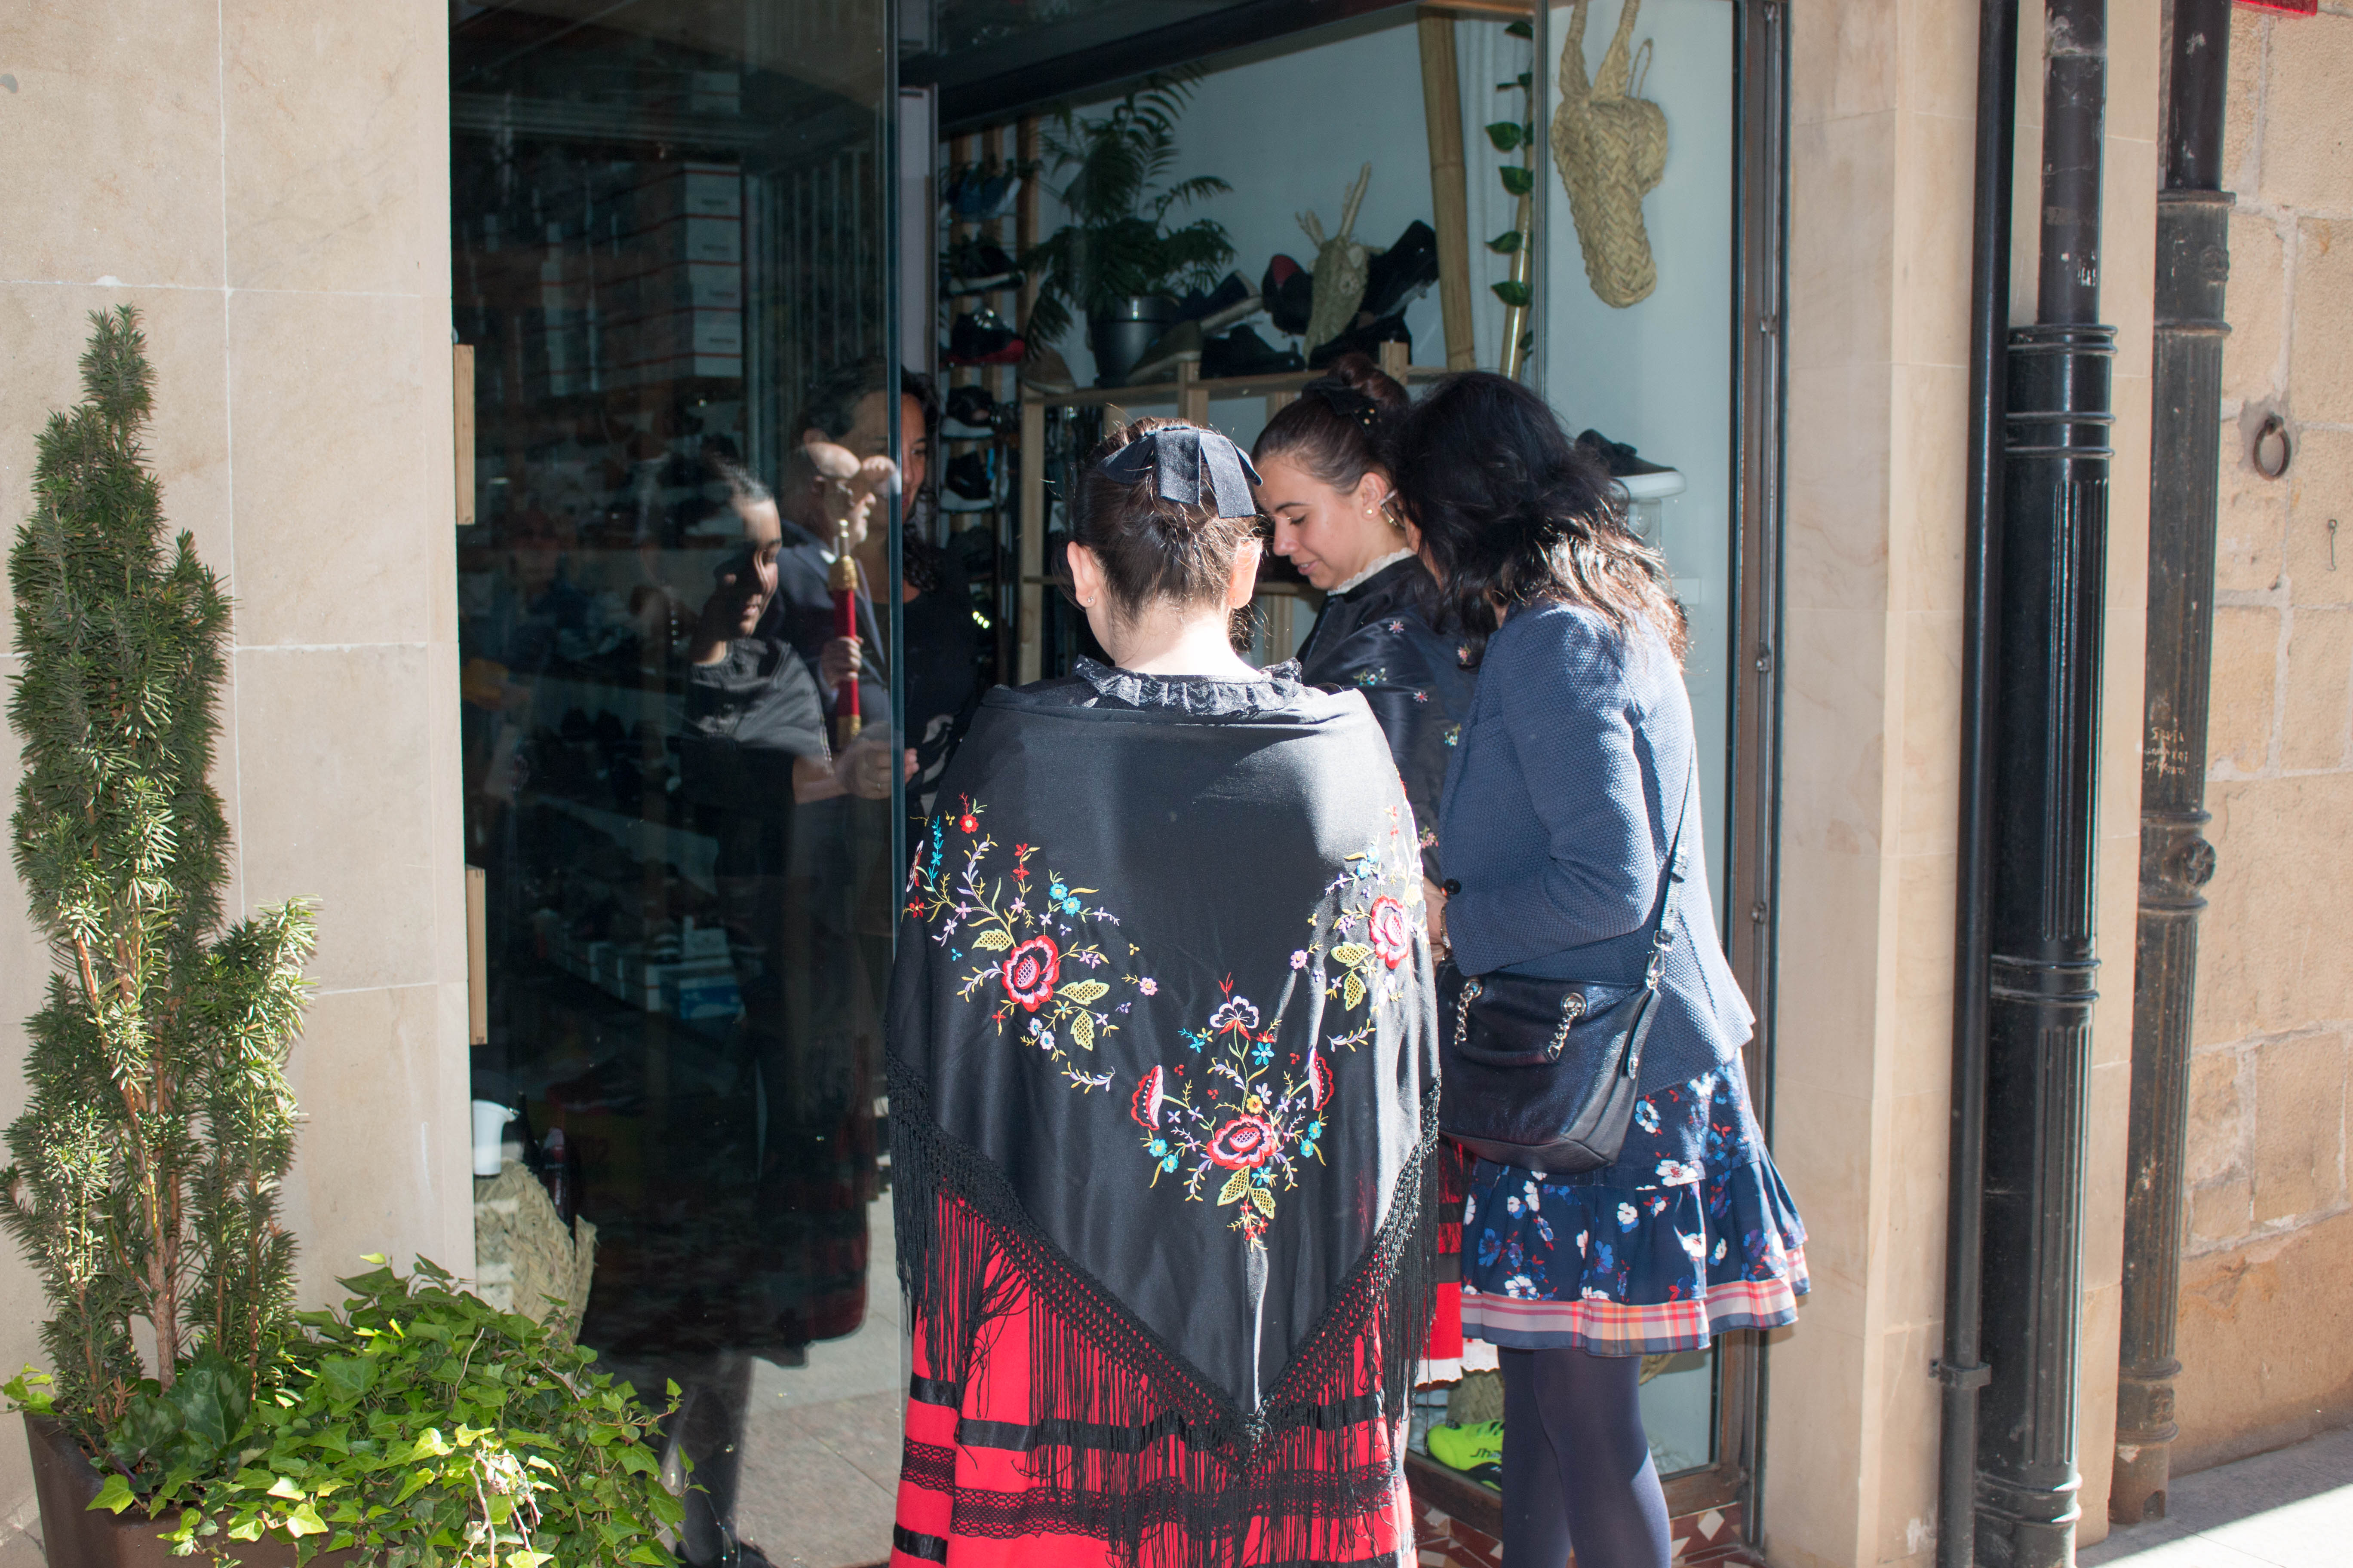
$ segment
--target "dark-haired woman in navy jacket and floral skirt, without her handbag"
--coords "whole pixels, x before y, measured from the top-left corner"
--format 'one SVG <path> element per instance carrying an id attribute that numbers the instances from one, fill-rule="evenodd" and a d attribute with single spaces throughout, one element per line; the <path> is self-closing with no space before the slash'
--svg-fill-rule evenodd
<path id="1" fill-rule="evenodd" d="M 1805 1293 L 1805 1227 L 1741 1070 L 1753 1016 L 1711 914 L 1682 609 L 1624 496 L 1527 388 L 1454 376 L 1395 456 L 1478 668 L 1438 827 L 1457 966 L 1640 985 L 1680 882 L 1617 1164 L 1480 1161 L 1464 1208 L 1464 1333 L 1504 1366 L 1506 1561 L 1560 1563 L 1574 1535 L 1579 1568 L 1666 1568 L 1642 1356 L 1791 1324 Z"/>

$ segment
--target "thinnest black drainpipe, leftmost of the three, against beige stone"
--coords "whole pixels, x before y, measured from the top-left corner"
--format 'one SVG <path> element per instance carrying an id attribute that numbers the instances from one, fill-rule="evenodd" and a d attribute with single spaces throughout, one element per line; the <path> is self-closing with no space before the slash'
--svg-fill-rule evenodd
<path id="1" fill-rule="evenodd" d="M 1944 1241 L 1944 1420 L 1937 1568 L 1969 1568 L 1977 1497 L 1977 1288 L 1984 1260 L 1988 851 L 1993 827 L 1993 602 L 2000 581 L 2002 343 L 2009 329 L 2009 207 L 2019 120 L 2019 0 L 1977 14 L 1977 216 L 1969 249 L 1969 496 L 1960 632 L 1960 893 L 1953 954 L 1953 1131 Z"/>

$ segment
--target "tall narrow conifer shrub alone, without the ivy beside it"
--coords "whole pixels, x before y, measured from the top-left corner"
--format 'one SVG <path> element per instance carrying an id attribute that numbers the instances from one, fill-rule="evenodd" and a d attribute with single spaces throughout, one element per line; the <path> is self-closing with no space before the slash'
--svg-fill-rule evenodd
<path id="1" fill-rule="evenodd" d="M 56 969 L 0 1220 L 49 1305 L 54 1371 L 12 1392 L 52 1563 L 153 1554 L 153 1526 L 118 1542 L 89 1500 L 219 1465 L 294 1328 L 278 1190 L 313 945 L 301 903 L 221 926 L 228 825 L 207 773 L 228 599 L 188 534 L 165 538 L 136 320 L 92 320 L 82 404 L 40 435 L 9 552 L 12 851 Z"/>

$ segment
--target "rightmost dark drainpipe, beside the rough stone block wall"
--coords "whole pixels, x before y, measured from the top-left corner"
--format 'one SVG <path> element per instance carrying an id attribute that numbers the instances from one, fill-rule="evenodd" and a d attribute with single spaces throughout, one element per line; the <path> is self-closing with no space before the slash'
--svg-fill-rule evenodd
<path id="1" fill-rule="evenodd" d="M 2148 458 L 2148 686 L 2141 701 L 2141 922 L 2132 971 L 2132 1121 L 2125 1147 L 2125 1321 L 2108 1516 L 2165 1516 L 2172 1486 L 2174 1314 L 2200 889 L 2214 875 L 2205 811 L 2214 642 L 2214 491 L 2221 458 L 2224 282 L 2231 195 L 2221 115 L 2231 0 L 2172 0 L 2158 331 Z"/>

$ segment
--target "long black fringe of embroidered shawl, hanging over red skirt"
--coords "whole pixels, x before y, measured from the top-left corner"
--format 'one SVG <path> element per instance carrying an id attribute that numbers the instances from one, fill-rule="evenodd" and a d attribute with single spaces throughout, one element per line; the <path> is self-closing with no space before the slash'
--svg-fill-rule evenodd
<path id="1" fill-rule="evenodd" d="M 1398 1427 L 1428 1342 L 1440 1218 L 1438 1095 L 1421 1107 L 1421 1143 L 1398 1173 L 1388 1218 L 1358 1258 L 1257 1413 L 1217 1394 L 1160 1335 L 1071 1262 L 1021 1211 L 998 1166 L 939 1128 L 929 1095 L 894 1056 L 892 1204 L 899 1284 L 932 1378 L 962 1382 L 986 1326 L 1026 1288 L 1033 1427 L 1082 1434 L 1031 1450 L 1033 1493 L 1005 1519 L 967 1516 L 972 1535 L 1085 1530 L 1120 1568 L 1233 1568 L 1245 1547 L 1264 1561 L 1308 1561 L 1318 1528 L 1391 1507 L 1400 1474 L 1351 1465 L 1348 1429 Z M 1365 1340 L 1379 1349 L 1367 1354 Z M 1348 1399 L 1365 1380 L 1372 1401 Z M 1400 1455 L 1402 1458 L 1402 1455 Z M 1409 1549 L 1409 1542 L 1407 1542 Z"/>

